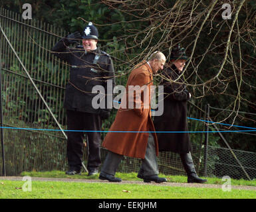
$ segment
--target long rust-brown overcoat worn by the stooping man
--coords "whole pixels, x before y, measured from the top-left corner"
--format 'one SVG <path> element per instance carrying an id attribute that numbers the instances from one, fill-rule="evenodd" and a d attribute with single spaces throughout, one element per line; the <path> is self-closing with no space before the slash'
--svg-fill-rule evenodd
<path id="1" fill-rule="evenodd" d="M 128 85 L 139 85 L 140 87 L 145 85 L 148 89 L 142 90 L 141 98 L 136 99 L 136 95 L 128 94 Z M 152 93 L 150 85 L 153 85 L 152 69 L 146 61 L 143 61 L 132 70 L 126 84 L 126 94 L 122 97 L 121 107 L 116 113 L 116 119 L 109 129 L 109 131 L 136 132 L 108 132 L 102 142 L 104 148 L 116 154 L 144 159 L 148 144 L 148 131 L 153 131 L 156 155 L 158 156 L 158 140 L 151 119 L 150 99 Z M 133 93 L 130 92 L 130 94 Z M 146 101 L 144 96 L 149 97 L 149 101 Z M 134 105 L 134 109 L 128 109 L 128 105 L 131 103 Z M 136 103 L 141 103 L 141 107 L 136 109 Z"/>

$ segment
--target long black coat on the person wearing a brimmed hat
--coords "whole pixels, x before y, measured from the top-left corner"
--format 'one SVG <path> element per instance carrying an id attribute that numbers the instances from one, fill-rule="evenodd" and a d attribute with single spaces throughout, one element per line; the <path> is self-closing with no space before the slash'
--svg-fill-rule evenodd
<path id="1" fill-rule="evenodd" d="M 182 78 L 175 80 L 180 73 L 173 65 L 162 72 L 164 78 L 160 82 L 164 85 L 164 113 L 154 117 L 156 131 L 188 131 L 187 101 L 190 93 Z M 188 132 L 157 132 L 159 151 L 188 153 L 191 151 Z"/>

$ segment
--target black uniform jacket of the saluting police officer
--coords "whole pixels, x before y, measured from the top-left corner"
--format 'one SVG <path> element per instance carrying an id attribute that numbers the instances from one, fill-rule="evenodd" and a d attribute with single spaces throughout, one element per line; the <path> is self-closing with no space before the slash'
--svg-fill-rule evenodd
<path id="1" fill-rule="evenodd" d="M 102 85 L 107 93 L 106 80 L 111 80 L 114 87 L 114 68 L 110 56 L 98 48 L 90 52 L 86 52 L 82 46 L 68 48 L 66 38 L 57 42 L 52 51 L 55 56 L 70 65 L 64 108 L 86 113 L 100 113 L 100 109 L 92 107 L 92 99 L 98 95 L 92 93 L 92 87 Z"/>

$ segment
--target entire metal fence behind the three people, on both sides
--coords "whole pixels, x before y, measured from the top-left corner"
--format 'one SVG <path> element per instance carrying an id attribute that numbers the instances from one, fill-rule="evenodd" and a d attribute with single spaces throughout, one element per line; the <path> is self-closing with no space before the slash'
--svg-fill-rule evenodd
<path id="1" fill-rule="evenodd" d="M 25 21 L 21 15 L 6 9 L 0 10 L 0 24 L 3 108 L 1 127 L 4 127 L 0 148 L 5 148 L 0 153 L 0 168 L 5 168 L 7 176 L 32 170 L 64 171 L 67 168 L 64 133 L 33 129 L 65 129 L 63 98 L 69 67 L 54 58 L 50 50 L 67 32 L 34 19 Z M 54 117 L 47 107 L 51 109 Z M 189 112 L 193 117 L 203 117 L 202 111 L 193 105 L 190 105 Z M 110 127 L 108 125 L 105 124 L 104 128 Z M 189 121 L 189 128 L 190 131 L 203 131 L 205 123 Z M 199 175 L 246 178 L 241 166 L 233 160 L 230 149 L 205 146 L 204 134 L 192 135 L 192 138 L 192 156 Z M 233 152 L 251 178 L 255 178 L 256 153 L 239 150 Z M 106 150 L 102 149 L 102 161 L 105 156 Z M 84 146 L 85 163 L 86 160 Z M 158 162 L 163 174 L 185 174 L 178 154 L 161 152 Z M 140 160 L 126 158 L 118 167 L 118 172 L 137 172 L 139 167 Z"/>

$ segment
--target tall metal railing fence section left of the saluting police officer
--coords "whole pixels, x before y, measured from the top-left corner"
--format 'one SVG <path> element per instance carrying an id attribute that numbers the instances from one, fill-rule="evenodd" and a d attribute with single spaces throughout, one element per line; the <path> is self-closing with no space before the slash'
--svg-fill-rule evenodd
<path id="1" fill-rule="evenodd" d="M 3 127 L 10 128 L 3 129 L 6 174 L 63 170 L 66 167 L 63 133 L 12 128 L 59 129 L 57 122 L 64 126 L 63 97 L 68 66 L 54 58 L 50 50 L 66 32 L 41 21 L 25 21 L 21 15 L 3 8 L 0 24 Z"/>

